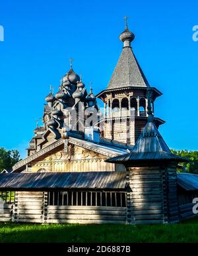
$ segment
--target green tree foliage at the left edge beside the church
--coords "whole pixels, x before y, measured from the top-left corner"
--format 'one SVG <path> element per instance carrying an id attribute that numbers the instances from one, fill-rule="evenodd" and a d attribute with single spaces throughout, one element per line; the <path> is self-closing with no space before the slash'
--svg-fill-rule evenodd
<path id="1" fill-rule="evenodd" d="M 0 172 L 3 169 L 11 170 L 13 165 L 18 162 L 19 157 L 17 150 L 7 151 L 6 149 L 0 148 Z"/>

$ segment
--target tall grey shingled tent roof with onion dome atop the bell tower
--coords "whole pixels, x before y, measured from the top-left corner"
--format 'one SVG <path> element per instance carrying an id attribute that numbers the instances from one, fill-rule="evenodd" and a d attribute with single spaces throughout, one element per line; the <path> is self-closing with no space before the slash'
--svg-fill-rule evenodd
<path id="1" fill-rule="evenodd" d="M 119 35 L 119 39 L 123 42 L 123 50 L 107 89 L 125 88 L 129 86 L 150 87 L 131 49 L 131 41 L 134 38 L 133 32 L 129 31 L 126 23 L 125 31 Z"/>

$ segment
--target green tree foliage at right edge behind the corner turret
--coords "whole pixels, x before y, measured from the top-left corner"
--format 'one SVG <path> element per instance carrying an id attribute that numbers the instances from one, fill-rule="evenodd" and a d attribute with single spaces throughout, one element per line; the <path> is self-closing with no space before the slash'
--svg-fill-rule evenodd
<path id="1" fill-rule="evenodd" d="M 178 168 L 178 172 L 191 172 L 198 174 L 198 151 L 187 151 L 186 149 L 182 151 L 172 149 L 171 151 L 175 155 L 191 160 L 190 162 L 181 162 L 181 168 Z"/>

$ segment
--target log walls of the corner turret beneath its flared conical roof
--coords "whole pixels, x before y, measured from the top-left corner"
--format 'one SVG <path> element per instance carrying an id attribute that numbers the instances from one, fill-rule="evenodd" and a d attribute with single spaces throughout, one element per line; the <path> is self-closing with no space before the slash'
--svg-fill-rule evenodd
<path id="1" fill-rule="evenodd" d="M 174 167 L 127 168 L 128 220 L 131 224 L 158 224 L 179 221 Z"/>

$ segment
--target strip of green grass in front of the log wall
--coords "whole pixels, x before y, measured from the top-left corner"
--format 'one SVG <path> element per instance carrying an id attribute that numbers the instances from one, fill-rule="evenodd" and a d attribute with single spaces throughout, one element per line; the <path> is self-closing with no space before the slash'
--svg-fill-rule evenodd
<path id="1" fill-rule="evenodd" d="M 169 225 L 0 224 L 0 242 L 197 242 L 198 218 Z"/>

